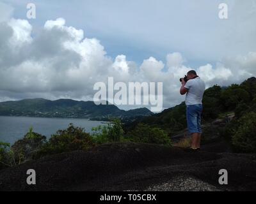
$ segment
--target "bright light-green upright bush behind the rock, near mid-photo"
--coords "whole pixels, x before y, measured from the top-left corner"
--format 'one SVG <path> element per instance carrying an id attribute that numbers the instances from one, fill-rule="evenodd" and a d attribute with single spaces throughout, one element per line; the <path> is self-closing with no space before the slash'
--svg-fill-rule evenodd
<path id="1" fill-rule="evenodd" d="M 92 128 L 92 136 L 95 143 L 120 142 L 124 134 L 122 123 L 119 119 L 113 119 L 107 125 Z"/>

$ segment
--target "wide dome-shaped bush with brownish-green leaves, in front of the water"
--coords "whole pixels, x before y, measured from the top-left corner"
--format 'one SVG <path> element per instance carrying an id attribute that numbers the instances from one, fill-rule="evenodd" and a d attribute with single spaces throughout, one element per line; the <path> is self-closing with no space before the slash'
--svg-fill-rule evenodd
<path id="1" fill-rule="evenodd" d="M 49 141 L 42 146 L 42 149 L 36 153 L 35 157 L 38 158 L 48 154 L 59 154 L 73 150 L 88 150 L 93 145 L 92 136 L 86 133 L 84 128 L 75 128 L 70 123 L 67 129 L 58 130 L 55 135 L 52 135 Z"/>

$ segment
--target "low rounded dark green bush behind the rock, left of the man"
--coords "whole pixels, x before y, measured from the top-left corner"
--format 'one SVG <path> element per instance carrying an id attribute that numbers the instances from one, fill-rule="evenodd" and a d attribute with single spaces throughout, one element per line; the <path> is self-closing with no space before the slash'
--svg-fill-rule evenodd
<path id="1" fill-rule="evenodd" d="M 132 142 L 157 143 L 171 145 L 171 140 L 167 133 L 161 128 L 151 128 L 147 124 L 139 123 L 131 135 Z"/>

